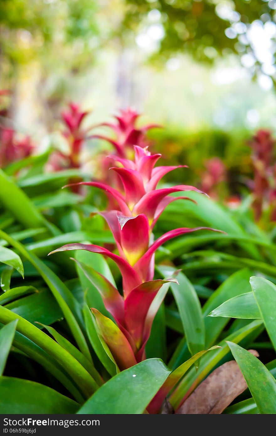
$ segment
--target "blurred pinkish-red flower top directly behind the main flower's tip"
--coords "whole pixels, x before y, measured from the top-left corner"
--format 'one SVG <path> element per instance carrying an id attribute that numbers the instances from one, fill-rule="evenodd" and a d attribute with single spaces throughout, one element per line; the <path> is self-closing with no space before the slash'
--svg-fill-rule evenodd
<path id="1" fill-rule="evenodd" d="M 121 109 L 120 115 L 115 116 L 117 123 L 101 123 L 98 125 L 113 129 L 116 135 L 115 139 L 104 135 L 93 135 L 91 138 L 99 138 L 108 141 L 114 146 L 119 157 L 129 157 L 129 155 L 132 157 L 134 145 L 141 147 L 148 145 L 145 133 L 155 127 L 161 127 L 158 124 L 148 124 L 138 128 L 136 127 L 138 117 L 138 112 L 131 108 Z"/>

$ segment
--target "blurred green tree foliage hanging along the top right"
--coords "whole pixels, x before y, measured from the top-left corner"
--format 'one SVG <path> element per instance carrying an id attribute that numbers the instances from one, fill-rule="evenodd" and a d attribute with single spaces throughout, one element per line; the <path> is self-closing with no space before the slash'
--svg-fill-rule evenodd
<path id="1" fill-rule="evenodd" d="M 259 0 L 126 0 L 126 3 L 124 24 L 131 30 L 137 29 L 151 10 L 161 12 L 165 36 L 158 55 L 185 51 L 197 61 L 212 61 L 216 53 L 223 54 L 225 49 L 239 53 L 238 35 L 229 38 L 225 30 L 235 22 L 273 20 L 275 14 L 274 2 Z"/>

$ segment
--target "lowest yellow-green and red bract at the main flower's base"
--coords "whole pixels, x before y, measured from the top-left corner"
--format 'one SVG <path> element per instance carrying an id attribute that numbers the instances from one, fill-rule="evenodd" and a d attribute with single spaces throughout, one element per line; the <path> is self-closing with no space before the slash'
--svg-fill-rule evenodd
<path id="1" fill-rule="evenodd" d="M 137 361 L 131 345 L 119 327 L 116 326 L 111 319 L 104 317 L 97 309 L 91 308 L 91 310 L 95 315 L 100 333 L 108 345 L 118 367 L 123 370 L 135 365 Z"/>

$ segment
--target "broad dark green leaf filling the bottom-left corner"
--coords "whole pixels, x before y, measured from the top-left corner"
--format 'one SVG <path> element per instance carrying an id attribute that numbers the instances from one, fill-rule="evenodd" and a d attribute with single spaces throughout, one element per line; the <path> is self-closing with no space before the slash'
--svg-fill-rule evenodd
<path id="1" fill-rule="evenodd" d="M 78 404 L 34 381 L 0 377 L 1 414 L 75 413 Z"/>

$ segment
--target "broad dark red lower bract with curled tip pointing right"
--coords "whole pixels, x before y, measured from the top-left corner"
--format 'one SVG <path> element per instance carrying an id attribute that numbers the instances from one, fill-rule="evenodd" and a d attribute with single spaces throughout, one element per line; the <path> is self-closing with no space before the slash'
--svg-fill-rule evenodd
<path id="1" fill-rule="evenodd" d="M 148 309 L 164 283 L 178 283 L 176 279 L 151 280 L 133 289 L 125 299 L 125 321 L 137 348 L 140 347 Z"/>

